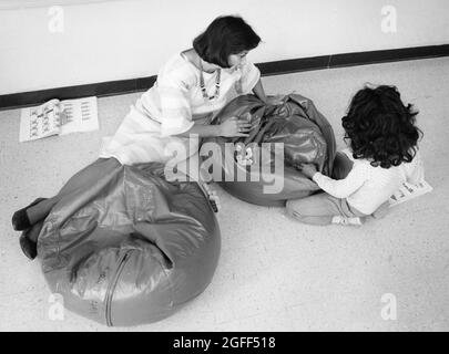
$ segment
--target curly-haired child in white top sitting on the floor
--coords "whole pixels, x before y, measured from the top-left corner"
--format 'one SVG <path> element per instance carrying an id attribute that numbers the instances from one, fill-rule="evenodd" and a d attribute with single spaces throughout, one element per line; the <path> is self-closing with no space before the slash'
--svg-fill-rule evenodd
<path id="1" fill-rule="evenodd" d="M 360 90 L 341 119 L 349 148 L 337 154 L 334 178 L 304 164 L 302 173 L 325 192 L 288 200 L 287 212 L 310 225 L 361 225 L 366 217 L 385 214 L 402 183 L 424 179 L 417 114 L 410 104 L 404 105 L 395 86 Z M 341 176 L 337 170 L 345 165 L 350 170 Z"/>

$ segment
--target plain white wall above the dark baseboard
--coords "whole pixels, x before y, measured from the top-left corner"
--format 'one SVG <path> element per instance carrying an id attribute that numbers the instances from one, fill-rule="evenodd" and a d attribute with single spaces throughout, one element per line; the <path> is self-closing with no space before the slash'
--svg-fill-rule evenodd
<path id="1" fill-rule="evenodd" d="M 220 14 L 262 37 L 253 62 L 449 43 L 448 0 L 68 1 L 55 33 L 49 6 L 0 10 L 0 94 L 154 75 Z M 396 33 L 381 31 L 384 6 Z"/>

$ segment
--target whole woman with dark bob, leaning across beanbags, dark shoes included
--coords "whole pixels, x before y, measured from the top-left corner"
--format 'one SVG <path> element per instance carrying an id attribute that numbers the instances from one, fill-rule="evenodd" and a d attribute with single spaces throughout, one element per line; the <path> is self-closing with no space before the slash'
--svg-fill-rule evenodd
<path id="1" fill-rule="evenodd" d="M 32 226 L 43 222 L 52 207 L 68 194 L 89 188 L 99 176 L 121 165 L 157 162 L 166 164 L 175 178 L 200 183 L 212 204 L 216 194 L 200 178 L 200 138 L 247 136 L 251 125 L 237 118 L 211 125 L 214 115 L 229 101 L 254 93 L 267 102 L 261 72 L 246 55 L 261 38 L 239 17 L 218 17 L 193 41 L 193 48 L 173 55 L 157 74 L 157 81 L 131 106 L 119 129 L 103 143 L 100 158 L 74 175 L 52 198 L 38 198 L 14 212 L 14 230 L 23 252 L 34 258 L 38 235 Z M 272 98 L 276 104 L 276 98 Z M 172 168 L 172 167 L 176 168 Z M 174 179 L 174 178 L 173 178 Z"/>

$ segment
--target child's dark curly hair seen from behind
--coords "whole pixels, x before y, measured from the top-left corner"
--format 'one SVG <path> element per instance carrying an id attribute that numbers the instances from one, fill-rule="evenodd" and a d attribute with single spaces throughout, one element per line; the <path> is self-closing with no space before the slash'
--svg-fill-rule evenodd
<path id="1" fill-rule="evenodd" d="M 345 140 L 354 158 L 371 160 L 371 166 L 389 168 L 411 162 L 422 132 L 415 126 L 418 112 L 404 105 L 396 86 L 365 86 L 350 102 L 341 119 Z"/>

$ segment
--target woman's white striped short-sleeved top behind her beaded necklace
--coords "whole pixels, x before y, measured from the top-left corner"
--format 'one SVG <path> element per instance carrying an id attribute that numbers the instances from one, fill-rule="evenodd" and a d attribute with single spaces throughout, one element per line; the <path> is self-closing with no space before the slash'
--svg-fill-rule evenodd
<path id="1" fill-rule="evenodd" d="M 203 72 L 210 96 L 215 93 L 216 75 L 217 71 Z M 200 70 L 178 53 L 160 70 L 156 83 L 137 100 L 135 107 L 161 123 L 162 136 L 177 135 L 188 131 L 195 122 L 210 121 L 239 94 L 251 93 L 259 79 L 259 70 L 251 62 L 235 69 L 222 69 L 220 96 L 207 100 L 200 86 Z M 236 90 L 237 82 L 241 92 Z"/>

